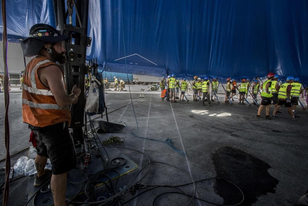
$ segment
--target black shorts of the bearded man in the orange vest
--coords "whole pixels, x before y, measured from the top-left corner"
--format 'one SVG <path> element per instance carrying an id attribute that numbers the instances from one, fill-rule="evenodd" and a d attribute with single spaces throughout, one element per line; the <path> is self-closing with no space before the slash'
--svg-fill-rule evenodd
<path id="1" fill-rule="evenodd" d="M 68 122 L 34 127 L 29 125 L 36 135 L 35 147 L 39 156 L 50 159 L 52 174 L 63 174 L 77 165 L 75 147 L 68 130 Z"/>

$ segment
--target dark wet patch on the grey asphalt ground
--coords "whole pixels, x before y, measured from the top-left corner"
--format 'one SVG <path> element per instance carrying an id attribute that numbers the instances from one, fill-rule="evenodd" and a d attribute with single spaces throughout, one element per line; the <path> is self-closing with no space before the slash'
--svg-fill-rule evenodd
<path id="1" fill-rule="evenodd" d="M 252 205 L 257 197 L 275 193 L 278 180 L 268 173 L 271 168 L 266 162 L 240 149 L 222 147 L 212 154 L 217 177 L 227 179 L 244 192 L 245 200 L 241 205 Z M 215 190 L 223 204 L 236 204 L 242 200 L 238 189 L 225 181 L 217 180 Z"/>

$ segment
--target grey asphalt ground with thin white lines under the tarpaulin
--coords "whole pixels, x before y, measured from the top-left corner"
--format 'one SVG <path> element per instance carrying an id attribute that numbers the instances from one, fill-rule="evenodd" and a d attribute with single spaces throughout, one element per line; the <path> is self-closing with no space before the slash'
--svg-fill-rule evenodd
<path id="1" fill-rule="evenodd" d="M 307 162 L 307 111 L 297 109 L 301 118 L 291 120 L 286 108 L 282 108 L 278 119 L 255 119 L 257 106 L 234 106 L 212 103 L 212 107 L 201 106 L 201 102 L 169 103 L 161 101 L 158 92 L 142 92 L 145 98 L 134 105 L 137 125 L 132 104 L 111 112 L 111 122 L 124 122 L 126 133 L 99 134 L 101 140 L 111 135 L 125 138 L 120 147 L 136 149 L 149 156 L 151 161 L 164 162 L 172 166 L 155 163 L 141 179 L 149 185 L 180 185 L 194 181 L 218 177 L 227 179 L 244 192 L 242 205 L 293 205 L 308 189 Z M 29 146 L 29 130 L 22 123 L 21 93 L 12 93 L 10 103 L 10 151 L 17 152 Z M 133 101 L 139 95 L 132 94 Z M 119 108 L 131 101 L 127 92 L 108 92 L 106 104 L 108 111 Z M 249 99 L 251 102 L 251 100 Z M 3 95 L 0 94 L 3 105 Z M 271 108 L 271 112 L 274 107 Z M 3 107 L 1 109 L 1 136 L 3 137 Z M 265 110 L 262 112 L 265 116 Z M 105 120 L 105 119 L 103 119 Z M 165 141 L 170 138 L 174 148 L 185 152 L 185 156 L 174 151 L 165 143 L 141 139 L 152 138 Z M 0 155 L 4 157 L 3 141 Z M 139 169 L 119 179 L 118 186 L 123 188 L 147 164 L 144 155 L 128 149 L 120 149 L 125 155 L 139 165 Z M 17 159 L 16 157 L 14 157 Z M 3 161 L 1 162 L 3 164 Z M 12 165 L 14 162 L 12 162 Z M 182 170 L 179 170 L 176 166 Z M 141 174 L 144 174 L 142 172 Z M 138 179 L 138 178 L 137 178 Z M 16 183 L 16 182 L 15 182 Z M 23 182 L 24 185 L 26 183 Z M 136 194 L 152 187 L 140 189 Z M 192 184 L 179 187 L 193 195 Z M 11 187 L 11 199 L 16 194 L 26 197 L 27 190 L 22 184 Z M 96 196 L 107 196 L 104 186 L 96 191 Z M 126 205 L 149 205 L 156 196 L 179 190 L 159 187 L 144 193 Z M 135 194 L 135 195 L 136 195 Z M 127 193 L 121 196 L 124 203 L 134 195 Z M 241 201 L 241 194 L 232 184 L 223 180 L 209 179 L 196 183 L 196 197 L 218 204 L 235 204 Z M 80 200 L 85 200 L 80 196 Z M 12 200 L 12 201 L 13 201 Z M 21 201 L 20 198 L 19 201 Z M 185 195 L 165 194 L 155 199 L 154 205 L 186 205 Z M 14 204 L 18 205 L 16 200 Z M 22 205 L 22 204 L 20 204 Z M 193 200 L 193 205 L 211 205 L 201 200 Z"/>

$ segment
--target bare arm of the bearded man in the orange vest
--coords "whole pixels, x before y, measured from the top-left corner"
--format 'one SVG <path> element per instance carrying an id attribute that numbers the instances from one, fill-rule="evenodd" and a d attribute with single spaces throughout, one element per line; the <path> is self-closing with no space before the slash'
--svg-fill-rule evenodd
<path id="1" fill-rule="evenodd" d="M 38 74 L 42 83 L 50 88 L 60 107 L 67 107 L 76 102 L 80 94 L 80 89 L 74 88 L 74 93 L 67 95 L 64 87 L 63 74 L 59 66 L 50 65 L 39 69 Z"/>

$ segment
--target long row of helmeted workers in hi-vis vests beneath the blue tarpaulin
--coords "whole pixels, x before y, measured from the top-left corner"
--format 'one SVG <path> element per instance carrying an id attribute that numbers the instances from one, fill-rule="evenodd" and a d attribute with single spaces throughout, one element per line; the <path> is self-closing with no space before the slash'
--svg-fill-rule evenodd
<path id="1" fill-rule="evenodd" d="M 172 74 L 168 76 L 167 79 L 163 76 L 160 81 L 160 90 L 161 90 L 161 98 L 162 100 L 166 99 L 171 101 L 172 103 L 176 103 L 176 99 L 180 99 L 180 101 L 185 101 L 184 97 L 186 91 L 188 90 L 188 83 L 191 84 L 193 89 L 193 101 L 198 101 L 198 98 L 201 100 L 202 105 L 205 105 L 205 101 L 207 101 L 207 105 L 211 106 L 211 102 L 218 100 L 218 78 L 213 78 L 212 82 L 209 77 L 205 76 L 204 79 L 194 76 L 194 80 L 190 82 L 186 82 L 186 78 L 175 78 L 175 75 Z M 267 75 L 267 80 L 265 82 L 260 79 L 255 78 L 252 83 L 249 82 L 249 79 L 242 79 L 241 83 L 237 85 L 235 79 L 227 78 L 227 84 L 225 90 L 225 103 L 232 103 L 234 101 L 233 97 L 237 95 L 237 90 L 239 93 L 239 102 L 238 104 L 245 105 L 244 101 L 247 101 L 248 94 L 254 100 L 255 105 L 259 105 L 257 100 L 257 95 L 261 96 L 261 104 L 258 109 L 258 114 L 256 118 L 261 117 L 261 111 L 264 107 L 266 107 L 266 119 L 272 119 L 270 116 L 270 107 L 271 105 L 275 105 L 275 109 L 273 112 L 273 117 L 278 118 L 276 113 L 280 113 L 278 109 L 284 105 L 288 108 L 291 118 L 297 119 L 299 116 L 295 116 L 295 109 L 298 105 L 299 96 L 304 95 L 304 90 L 307 90 L 308 87 L 304 88 L 303 85 L 299 82 L 299 78 L 294 78 L 293 76 L 289 76 L 286 78 L 286 83 L 280 81 L 279 76 L 270 72 Z M 211 92 L 210 92 L 211 91 Z M 180 97 L 179 97 L 179 93 Z M 202 99 L 201 99 L 202 94 Z M 187 98 L 186 98 L 187 99 Z"/>

